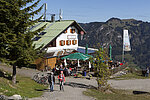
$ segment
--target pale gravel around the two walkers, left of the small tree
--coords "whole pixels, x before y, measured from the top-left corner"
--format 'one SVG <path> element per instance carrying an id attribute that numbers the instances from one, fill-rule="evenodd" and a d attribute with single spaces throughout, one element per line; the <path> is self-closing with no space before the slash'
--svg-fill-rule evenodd
<path id="1" fill-rule="evenodd" d="M 54 85 L 54 91 L 49 92 L 45 90 L 42 97 L 31 98 L 29 100 L 95 100 L 92 97 L 83 95 L 83 91 L 87 88 L 91 88 L 92 80 L 78 79 L 78 78 L 66 78 L 66 83 L 64 86 L 64 91 L 59 90 L 58 81 Z M 96 81 L 95 81 L 96 82 Z"/>

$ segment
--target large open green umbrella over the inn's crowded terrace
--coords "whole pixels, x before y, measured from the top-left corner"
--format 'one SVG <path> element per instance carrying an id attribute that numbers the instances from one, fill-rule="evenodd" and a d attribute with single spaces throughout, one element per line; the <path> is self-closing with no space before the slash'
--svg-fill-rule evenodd
<path id="1" fill-rule="evenodd" d="M 73 53 L 68 56 L 62 57 L 61 59 L 68 59 L 68 60 L 88 60 L 89 57 L 82 54 L 82 53 Z"/>

